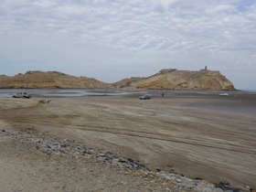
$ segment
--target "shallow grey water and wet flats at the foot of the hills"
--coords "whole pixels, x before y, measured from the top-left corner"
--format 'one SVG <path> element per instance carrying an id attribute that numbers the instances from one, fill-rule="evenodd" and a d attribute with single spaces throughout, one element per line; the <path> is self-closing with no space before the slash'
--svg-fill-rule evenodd
<path id="1" fill-rule="evenodd" d="M 0 98 L 12 98 L 16 92 L 27 92 L 32 98 L 74 98 L 91 96 L 121 96 L 134 95 L 134 98 L 145 93 L 151 94 L 153 99 L 165 98 L 196 98 L 200 104 L 191 101 L 190 107 L 211 109 L 214 111 L 229 111 L 256 115 L 256 91 L 130 91 L 107 89 L 0 89 Z M 228 97 L 219 93 L 229 93 Z"/>

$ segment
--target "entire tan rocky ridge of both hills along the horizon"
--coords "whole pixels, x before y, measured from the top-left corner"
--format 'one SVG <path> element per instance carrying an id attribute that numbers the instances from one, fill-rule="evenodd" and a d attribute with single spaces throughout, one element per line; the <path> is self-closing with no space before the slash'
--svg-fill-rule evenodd
<path id="1" fill-rule="evenodd" d="M 58 71 L 27 71 L 14 77 L 0 75 L 0 88 L 95 88 L 144 90 L 235 90 L 219 71 L 162 69 L 147 78 L 133 77 L 105 83 L 87 77 L 75 77 Z"/>

